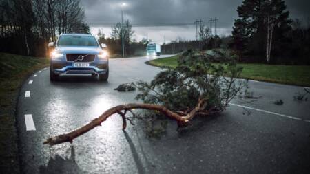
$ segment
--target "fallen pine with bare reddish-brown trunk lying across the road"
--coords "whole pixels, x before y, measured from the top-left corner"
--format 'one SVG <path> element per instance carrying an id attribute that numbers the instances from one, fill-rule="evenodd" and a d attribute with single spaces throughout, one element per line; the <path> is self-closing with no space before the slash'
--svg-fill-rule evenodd
<path id="1" fill-rule="evenodd" d="M 101 126 L 114 114 L 123 118 L 123 129 L 126 129 L 127 121 L 133 124 L 132 119 L 138 118 L 132 109 L 158 111 L 176 120 L 179 127 L 186 127 L 195 116 L 209 116 L 223 111 L 245 86 L 242 80 L 238 80 L 241 72 L 242 68 L 236 65 L 231 55 L 215 60 L 203 52 L 189 50 L 180 55 L 175 69 L 165 67 L 151 83 L 136 84 L 140 91 L 136 99 L 144 103 L 112 107 L 83 127 L 48 138 L 44 144 L 52 146 L 72 142 L 74 138 Z M 127 113 L 132 116 L 127 116 Z"/>

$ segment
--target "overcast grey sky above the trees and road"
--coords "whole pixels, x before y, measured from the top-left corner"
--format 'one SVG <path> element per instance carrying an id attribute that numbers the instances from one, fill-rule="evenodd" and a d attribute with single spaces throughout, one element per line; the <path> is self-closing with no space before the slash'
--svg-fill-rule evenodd
<path id="1" fill-rule="evenodd" d="M 194 21 L 203 19 L 205 25 L 210 25 L 211 17 L 219 19 L 218 34 L 231 34 L 238 17 L 236 8 L 242 0 L 81 0 L 91 32 L 96 34 L 101 28 L 109 36 L 112 23 L 121 21 L 123 2 L 124 19 L 134 24 L 134 37 L 138 41 L 148 37 L 163 43 L 164 38 L 165 41 L 194 39 Z M 310 17 L 309 0 L 286 0 L 286 3 L 292 18 L 307 21 Z"/>

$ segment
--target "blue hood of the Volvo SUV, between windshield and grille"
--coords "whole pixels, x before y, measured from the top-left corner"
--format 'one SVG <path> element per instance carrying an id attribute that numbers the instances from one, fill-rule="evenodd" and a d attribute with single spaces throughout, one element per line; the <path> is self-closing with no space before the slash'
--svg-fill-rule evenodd
<path id="1" fill-rule="evenodd" d="M 62 54 L 99 54 L 100 47 L 56 47 Z"/>

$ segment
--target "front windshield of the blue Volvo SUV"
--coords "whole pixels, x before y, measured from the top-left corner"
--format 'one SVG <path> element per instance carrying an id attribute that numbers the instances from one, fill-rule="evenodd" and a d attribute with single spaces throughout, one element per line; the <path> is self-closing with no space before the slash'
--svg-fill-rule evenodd
<path id="1" fill-rule="evenodd" d="M 59 46 L 90 46 L 96 47 L 98 43 L 94 36 L 61 36 Z"/>

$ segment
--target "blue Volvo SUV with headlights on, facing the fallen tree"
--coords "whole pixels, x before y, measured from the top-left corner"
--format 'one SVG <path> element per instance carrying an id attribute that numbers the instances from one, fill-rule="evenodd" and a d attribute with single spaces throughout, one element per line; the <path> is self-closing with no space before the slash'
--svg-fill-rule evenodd
<path id="1" fill-rule="evenodd" d="M 60 74 L 92 74 L 99 80 L 109 77 L 109 60 L 107 46 L 99 45 L 90 34 L 61 34 L 50 54 L 50 80 L 59 78 Z"/>

